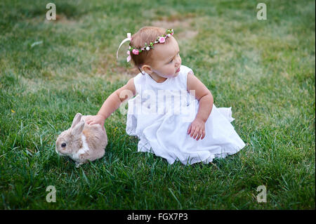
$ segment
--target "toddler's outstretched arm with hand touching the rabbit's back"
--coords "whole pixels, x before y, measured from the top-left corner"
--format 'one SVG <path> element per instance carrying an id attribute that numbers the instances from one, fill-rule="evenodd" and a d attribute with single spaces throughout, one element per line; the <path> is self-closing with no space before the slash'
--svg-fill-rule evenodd
<path id="1" fill-rule="evenodd" d="M 98 114 L 96 116 L 86 117 L 87 124 L 101 124 L 104 125 L 105 119 L 109 117 L 112 112 L 117 110 L 121 103 L 125 100 L 129 100 L 136 95 L 134 79 L 129 79 L 126 85 L 114 91 L 103 103 Z"/>

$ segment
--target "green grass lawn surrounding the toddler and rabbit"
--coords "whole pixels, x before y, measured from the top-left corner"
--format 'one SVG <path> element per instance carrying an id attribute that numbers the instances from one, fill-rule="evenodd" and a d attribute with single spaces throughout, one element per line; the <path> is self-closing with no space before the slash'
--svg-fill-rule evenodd
<path id="1" fill-rule="evenodd" d="M 315 1 L 264 1 L 257 20 L 256 1 L 59 0 L 55 22 L 48 2 L 0 1 L 0 209 L 315 209 Z M 127 44 L 115 53 L 145 25 L 175 29 L 183 65 L 232 107 L 247 145 L 170 165 L 137 152 L 117 110 L 105 157 L 76 169 L 56 137 L 136 74 Z"/>

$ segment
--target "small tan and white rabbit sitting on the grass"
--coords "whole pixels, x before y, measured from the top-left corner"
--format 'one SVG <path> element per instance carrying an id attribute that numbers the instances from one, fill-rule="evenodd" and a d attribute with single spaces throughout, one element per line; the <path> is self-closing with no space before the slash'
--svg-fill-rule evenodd
<path id="1" fill-rule="evenodd" d="M 107 146 L 105 127 L 86 124 L 85 117 L 88 115 L 77 113 L 70 129 L 62 131 L 56 140 L 55 151 L 61 156 L 70 157 L 77 168 L 103 157 Z"/>

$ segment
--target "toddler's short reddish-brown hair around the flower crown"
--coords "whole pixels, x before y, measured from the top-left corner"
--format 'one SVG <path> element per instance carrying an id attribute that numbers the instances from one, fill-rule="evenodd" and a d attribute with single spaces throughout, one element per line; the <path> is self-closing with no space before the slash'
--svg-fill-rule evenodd
<path id="1" fill-rule="evenodd" d="M 138 32 L 133 34 L 129 45 L 136 48 L 143 48 L 143 46 L 145 46 L 145 43 L 150 44 L 150 42 L 154 41 L 155 39 L 157 39 L 158 36 L 164 33 L 166 33 L 166 29 L 162 27 L 142 27 L 138 30 Z M 168 44 L 169 41 L 170 39 L 166 38 L 166 42 L 164 44 Z M 133 61 L 133 64 L 138 68 L 138 70 L 140 70 L 140 67 L 143 66 L 145 63 L 151 62 L 152 53 L 154 53 L 154 49 L 150 51 L 142 51 L 138 55 L 134 55 L 133 53 L 131 53 L 131 60 Z"/>

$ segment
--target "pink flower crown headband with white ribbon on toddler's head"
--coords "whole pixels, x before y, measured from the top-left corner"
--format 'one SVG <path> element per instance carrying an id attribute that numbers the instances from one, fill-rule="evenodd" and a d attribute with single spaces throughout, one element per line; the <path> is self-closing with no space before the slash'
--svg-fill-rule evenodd
<path id="1" fill-rule="evenodd" d="M 150 51 L 150 48 L 154 48 L 154 44 L 164 44 L 167 37 L 171 37 L 173 35 L 173 29 L 166 29 L 166 34 L 162 34 L 154 41 L 150 42 L 150 44 L 145 43 L 145 46 L 143 48 L 136 48 L 134 46 L 129 46 L 129 51 L 127 51 L 127 58 L 126 61 L 129 62 L 131 60 L 131 53 L 134 55 L 138 55 L 142 51 Z M 121 45 L 124 44 L 126 41 L 131 41 L 131 33 L 127 33 L 127 38 L 121 41 L 121 44 L 119 44 L 119 48 L 121 48 Z M 117 58 L 119 58 L 119 48 L 117 48 Z"/>

